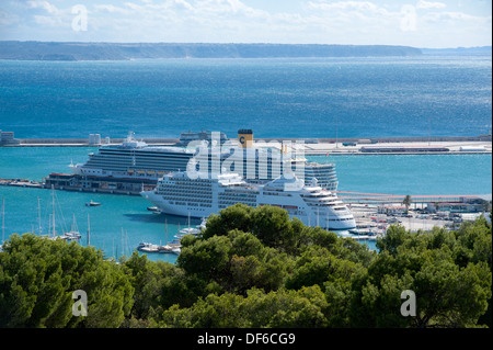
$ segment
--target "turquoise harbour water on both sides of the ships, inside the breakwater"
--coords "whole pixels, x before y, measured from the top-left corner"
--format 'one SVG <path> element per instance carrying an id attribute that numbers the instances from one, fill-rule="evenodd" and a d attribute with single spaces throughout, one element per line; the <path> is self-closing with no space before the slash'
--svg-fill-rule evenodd
<path id="1" fill-rule="evenodd" d="M 26 147 L 0 148 L 0 178 L 41 180 L 49 172 L 69 172 L 70 161 L 82 162 L 94 148 Z M 394 194 L 486 194 L 492 192 L 491 155 L 440 156 L 314 156 L 318 162 L 335 162 L 341 191 Z M 140 241 L 164 242 L 187 226 L 186 217 L 156 215 L 140 196 L 55 191 L 56 222 L 69 228 L 76 216 L 87 244 L 88 214 L 91 245 L 107 257 L 129 255 Z M 38 199 L 43 233 L 49 229 L 51 191 L 0 187 L 5 200 L 5 236 L 34 230 L 38 234 Z M 88 207 L 90 200 L 102 203 Z M 165 225 L 165 222 L 168 225 Z M 192 219 L 191 225 L 198 225 Z M 59 228 L 58 228 L 59 229 Z M 369 244 L 374 247 L 375 244 Z M 174 262 L 174 255 L 149 255 L 151 260 Z"/>

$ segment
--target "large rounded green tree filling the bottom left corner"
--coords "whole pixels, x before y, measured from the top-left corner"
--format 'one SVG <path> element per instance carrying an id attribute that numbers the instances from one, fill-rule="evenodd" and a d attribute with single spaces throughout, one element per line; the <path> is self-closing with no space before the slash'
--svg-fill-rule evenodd
<path id="1" fill-rule="evenodd" d="M 72 315 L 72 292 L 88 295 L 88 316 Z M 0 252 L 1 327 L 118 327 L 133 306 L 123 269 L 102 252 L 31 234 Z"/>

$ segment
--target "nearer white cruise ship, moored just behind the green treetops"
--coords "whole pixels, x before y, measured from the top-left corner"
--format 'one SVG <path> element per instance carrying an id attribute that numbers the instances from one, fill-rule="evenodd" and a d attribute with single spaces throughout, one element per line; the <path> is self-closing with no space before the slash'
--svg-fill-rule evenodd
<path id="1" fill-rule="evenodd" d="M 308 226 L 331 230 L 356 227 L 351 211 L 334 193 L 323 190 L 317 179 L 306 185 L 296 177 L 280 176 L 264 184 L 252 184 L 237 173 L 191 177 L 187 172 L 174 172 L 159 180 L 154 190 L 140 194 L 159 211 L 171 215 L 207 217 L 227 206 L 243 203 L 254 207 L 282 207 Z"/>

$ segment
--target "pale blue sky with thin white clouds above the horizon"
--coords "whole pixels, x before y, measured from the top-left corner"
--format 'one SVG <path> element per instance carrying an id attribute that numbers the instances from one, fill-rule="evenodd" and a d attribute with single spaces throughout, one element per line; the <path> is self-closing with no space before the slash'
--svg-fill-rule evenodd
<path id="1" fill-rule="evenodd" d="M 490 46 L 490 0 L 0 0 L 0 41 Z"/>

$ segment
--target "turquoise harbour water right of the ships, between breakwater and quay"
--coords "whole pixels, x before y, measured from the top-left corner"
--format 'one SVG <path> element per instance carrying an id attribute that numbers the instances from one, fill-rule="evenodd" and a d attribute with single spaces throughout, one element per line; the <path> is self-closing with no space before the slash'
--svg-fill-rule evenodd
<path id="1" fill-rule="evenodd" d="M 307 157 L 335 162 L 340 191 L 389 194 L 492 193 L 491 155 Z"/>

